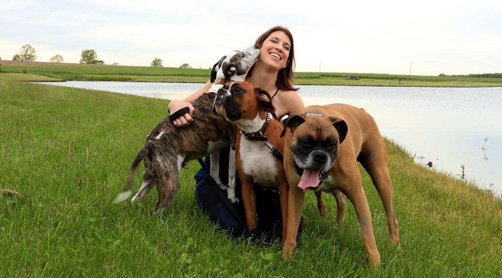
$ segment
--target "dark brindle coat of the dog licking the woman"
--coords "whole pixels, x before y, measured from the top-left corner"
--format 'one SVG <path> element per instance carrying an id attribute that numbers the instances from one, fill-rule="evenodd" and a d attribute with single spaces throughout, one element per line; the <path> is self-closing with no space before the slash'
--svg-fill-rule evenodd
<path id="1" fill-rule="evenodd" d="M 144 160 L 145 172 L 141 189 L 132 201 L 142 199 L 157 184 L 159 197 L 155 211 L 156 214 L 161 213 L 178 193 L 179 173 L 184 164 L 218 151 L 234 141 L 235 126 L 212 113 L 215 96 L 208 92 L 191 102 L 195 112 L 189 128 L 178 128 L 166 117 L 150 132 L 145 146 L 133 162 L 132 168 L 136 169 Z M 189 147 L 187 142 L 192 142 Z M 218 157 L 213 159 L 218 161 Z M 131 173 L 128 183 L 132 182 L 134 176 L 135 173 Z"/>

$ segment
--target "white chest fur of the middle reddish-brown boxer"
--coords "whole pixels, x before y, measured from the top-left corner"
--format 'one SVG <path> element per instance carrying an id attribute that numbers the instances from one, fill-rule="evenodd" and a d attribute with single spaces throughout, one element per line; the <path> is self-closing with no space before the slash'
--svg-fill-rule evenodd
<path id="1" fill-rule="evenodd" d="M 241 136 L 239 155 L 244 173 L 252 176 L 255 183 L 266 187 L 277 186 L 275 182 L 276 158 L 263 142 L 248 141 Z"/>

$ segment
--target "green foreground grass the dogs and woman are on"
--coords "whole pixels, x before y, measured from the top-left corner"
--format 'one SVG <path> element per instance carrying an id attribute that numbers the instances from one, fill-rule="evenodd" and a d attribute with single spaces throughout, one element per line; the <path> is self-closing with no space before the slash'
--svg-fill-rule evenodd
<path id="1" fill-rule="evenodd" d="M 363 173 L 377 246 L 367 268 L 360 228 L 324 196 L 304 206 L 294 256 L 280 243 L 232 240 L 197 208 L 191 162 L 163 213 L 157 194 L 137 208 L 111 204 L 169 101 L 0 79 L 0 276 L 4 277 L 498 277 L 502 201 L 416 165 L 388 141 L 401 245 L 392 246 L 382 203 Z M 140 169 L 141 170 L 141 169 Z M 141 183 L 138 175 L 134 189 Z M 5 190 L 19 192 L 10 195 Z M 155 191 L 155 190 L 154 190 Z"/>

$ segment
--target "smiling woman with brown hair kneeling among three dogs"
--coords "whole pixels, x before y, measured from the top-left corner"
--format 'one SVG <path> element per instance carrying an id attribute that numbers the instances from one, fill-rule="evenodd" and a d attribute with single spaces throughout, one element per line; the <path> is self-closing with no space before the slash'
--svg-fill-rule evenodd
<path id="1" fill-rule="evenodd" d="M 303 101 L 298 96 L 296 91 L 298 88 L 293 87 L 293 70 L 295 67 L 294 43 L 291 32 L 282 26 L 276 26 L 263 33 L 255 42 L 260 47 L 260 57 L 252 69 L 245 77 L 245 81 L 252 83 L 255 87 L 259 87 L 262 91 L 272 96 L 270 99 L 275 108 L 275 116 L 279 119 L 285 115 L 293 115 L 300 112 L 303 108 Z M 171 114 L 176 113 L 182 108 L 188 107 L 189 113 L 186 113 L 174 120 L 174 125 L 177 127 L 189 126 L 194 119 L 194 112 L 190 101 L 196 99 L 202 93 L 207 92 L 211 86 L 208 81 L 198 91 L 185 98 L 183 101 L 172 100 L 169 104 Z M 279 150 L 282 152 L 282 150 Z M 219 173 L 220 179 L 225 182 L 228 180 L 228 156 L 220 155 Z M 206 167 L 209 168 L 209 158 L 206 158 Z M 245 219 L 243 213 L 242 202 L 224 205 L 218 196 L 216 190 L 220 188 L 213 187 L 209 182 L 209 176 L 205 170 L 200 170 L 195 176 L 197 182 L 195 195 L 197 203 L 209 218 L 218 223 L 223 229 L 227 230 L 232 236 L 238 237 L 243 234 L 247 237 L 255 237 L 257 230 L 255 226 L 249 225 L 246 227 L 241 224 L 243 221 L 238 219 L 232 213 L 233 210 L 240 211 L 240 216 Z M 237 181 L 236 188 L 240 188 L 240 182 Z M 270 235 L 282 234 L 282 215 L 279 205 L 279 196 L 276 193 L 262 192 L 260 186 L 256 189 L 258 226 L 263 232 Z M 236 192 L 236 197 L 242 200 L 239 196 L 240 192 Z"/>

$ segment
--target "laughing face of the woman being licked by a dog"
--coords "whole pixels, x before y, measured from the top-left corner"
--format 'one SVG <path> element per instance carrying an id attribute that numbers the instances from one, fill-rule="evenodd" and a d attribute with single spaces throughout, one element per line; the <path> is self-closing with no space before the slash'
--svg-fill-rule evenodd
<path id="1" fill-rule="evenodd" d="M 275 31 L 263 41 L 260 61 L 277 70 L 283 69 L 288 64 L 290 50 L 291 40 L 288 35 L 282 31 Z"/>

